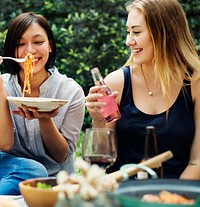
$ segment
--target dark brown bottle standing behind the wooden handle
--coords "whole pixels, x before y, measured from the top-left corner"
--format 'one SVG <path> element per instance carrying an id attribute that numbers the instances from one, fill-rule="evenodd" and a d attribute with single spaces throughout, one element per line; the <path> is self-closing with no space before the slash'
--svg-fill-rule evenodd
<path id="1" fill-rule="evenodd" d="M 158 155 L 156 128 L 155 126 L 147 126 L 144 146 L 144 158 L 142 162 L 155 157 L 156 155 Z M 162 166 L 154 168 L 153 170 L 157 173 L 159 178 L 162 178 Z M 149 178 L 149 176 L 146 172 L 138 172 L 138 179 L 147 178 Z"/>

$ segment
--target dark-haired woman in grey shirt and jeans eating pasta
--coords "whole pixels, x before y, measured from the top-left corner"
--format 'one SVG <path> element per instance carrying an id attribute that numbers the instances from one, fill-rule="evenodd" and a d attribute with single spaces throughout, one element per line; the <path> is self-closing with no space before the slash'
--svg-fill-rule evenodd
<path id="1" fill-rule="evenodd" d="M 83 124 L 84 93 L 78 83 L 60 74 L 54 66 L 53 33 L 46 19 L 33 12 L 20 14 L 11 22 L 4 45 L 4 56 L 24 58 L 28 53 L 34 56 L 34 70 L 30 77 L 31 94 L 24 96 L 65 99 L 68 103 L 51 112 L 9 104 L 14 138 L 9 136 L 9 142 L 0 145 L 0 194 L 19 194 L 18 183 L 27 178 L 55 176 L 60 170 L 75 171 L 73 154 Z M 24 63 L 4 60 L 3 64 L 5 93 L 21 97 Z M 9 116 L 7 110 L 0 119 Z M 8 123 L 11 128 L 10 118 Z M 5 142 L 2 136 L 1 142 Z"/>

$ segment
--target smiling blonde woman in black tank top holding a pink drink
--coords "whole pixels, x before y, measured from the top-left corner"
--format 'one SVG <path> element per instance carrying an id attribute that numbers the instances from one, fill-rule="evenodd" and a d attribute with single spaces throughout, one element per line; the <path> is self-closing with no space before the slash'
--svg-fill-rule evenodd
<path id="1" fill-rule="evenodd" d="M 98 86 L 86 97 L 93 127 L 116 130 L 118 158 L 107 172 L 139 163 L 145 127 L 154 125 L 158 152 L 174 155 L 163 163 L 163 177 L 200 179 L 200 60 L 184 10 L 178 0 L 136 0 L 126 9 L 130 58 L 105 78 L 121 119 L 104 121 Z"/>

